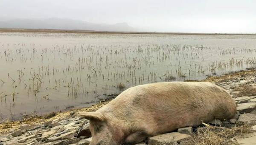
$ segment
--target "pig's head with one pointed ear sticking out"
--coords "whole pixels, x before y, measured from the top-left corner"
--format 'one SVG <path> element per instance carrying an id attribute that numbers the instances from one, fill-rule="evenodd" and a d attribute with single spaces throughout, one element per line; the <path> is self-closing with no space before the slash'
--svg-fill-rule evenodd
<path id="1" fill-rule="evenodd" d="M 97 112 L 81 113 L 81 116 L 90 120 L 92 140 L 89 145 L 119 145 L 113 136 L 113 128 L 107 124 L 103 114 Z"/>

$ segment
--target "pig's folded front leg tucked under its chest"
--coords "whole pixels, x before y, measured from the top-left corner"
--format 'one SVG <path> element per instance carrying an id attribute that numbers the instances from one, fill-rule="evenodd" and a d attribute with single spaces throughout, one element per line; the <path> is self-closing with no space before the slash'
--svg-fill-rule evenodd
<path id="1" fill-rule="evenodd" d="M 124 141 L 124 145 L 134 145 L 139 142 L 145 141 L 145 139 L 148 137 L 148 134 L 145 132 L 134 132 L 126 137 Z"/>

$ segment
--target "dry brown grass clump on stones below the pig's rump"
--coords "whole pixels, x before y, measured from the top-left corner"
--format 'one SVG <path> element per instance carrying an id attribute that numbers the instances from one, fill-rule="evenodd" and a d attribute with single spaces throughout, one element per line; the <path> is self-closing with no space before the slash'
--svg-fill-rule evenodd
<path id="1" fill-rule="evenodd" d="M 253 132 L 252 125 L 239 125 L 232 128 L 208 126 L 198 128 L 197 133 L 187 140 L 186 145 L 238 145 L 235 136 Z"/>

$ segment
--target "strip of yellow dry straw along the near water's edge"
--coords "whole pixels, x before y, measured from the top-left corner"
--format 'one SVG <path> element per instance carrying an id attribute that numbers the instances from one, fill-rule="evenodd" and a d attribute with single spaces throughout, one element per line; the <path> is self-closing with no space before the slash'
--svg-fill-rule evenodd
<path id="1" fill-rule="evenodd" d="M 249 75 L 249 76 L 256 76 L 256 68 L 250 68 L 248 70 L 243 70 L 243 71 L 235 71 L 231 72 L 228 74 L 223 74 L 220 76 L 212 76 L 212 77 L 207 77 L 204 80 L 185 80 L 185 82 L 212 82 L 212 83 L 221 83 L 225 82 L 227 80 L 231 80 L 233 78 L 236 78 L 241 75 Z M 46 113 L 44 116 L 38 115 L 38 114 L 30 114 L 22 117 L 19 119 L 16 119 L 15 121 L 9 121 L 9 119 L 2 120 L 0 123 L 0 134 L 6 131 L 9 131 L 10 129 L 15 129 L 17 128 L 20 124 L 30 124 L 30 125 L 35 125 L 38 122 L 44 122 L 49 119 L 56 119 L 58 117 L 63 117 L 67 114 L 70 114 L 70 112 L 81 112 L 81 111 L 96 111 L 99 108 L 101 108 L 103 105 L 107 104 L 111 100 L 113 100 L 118 94 L 111 94 L 109 96 L 109 99 L 107 100 L 101 100 L 99 102 L 96 102 L 94 105 L 91 105 L 89 107 L 84 107 L 84 108 L 72 108 L 70 110 L 65 110 L 65 111 L 59 111 L 59 112 L 49 112 Z"/>

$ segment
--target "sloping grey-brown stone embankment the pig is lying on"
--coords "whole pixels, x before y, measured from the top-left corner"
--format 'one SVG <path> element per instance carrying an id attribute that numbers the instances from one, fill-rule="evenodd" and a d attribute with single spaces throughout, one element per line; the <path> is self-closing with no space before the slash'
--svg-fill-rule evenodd
<path id="1" fill-rule="evenodd" d="M 227 90 L 237 103 L 230 119 L 212 120 L 199 127 L 179 128 L 177 132 L 148 138 L 137 145 L 253 145 L 256 143 L 256 70 L 236 72 L 207 80 Z M 22 121 L 0 124 L 0 145 L 88 145 L 89 122 L 79 115 L 93 111 L 108 101 L 47 117 L 24 117 Z M 244 138 L 246 137 L 246 138 Z"/>

